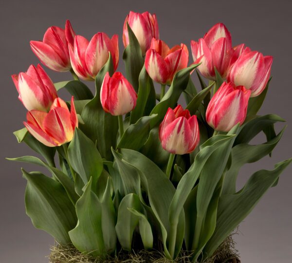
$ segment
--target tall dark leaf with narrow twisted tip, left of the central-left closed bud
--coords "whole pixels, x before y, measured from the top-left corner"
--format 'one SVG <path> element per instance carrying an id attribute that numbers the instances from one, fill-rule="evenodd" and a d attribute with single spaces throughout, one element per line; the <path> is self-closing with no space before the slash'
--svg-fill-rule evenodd
<path id="1" fill-rule="evenodd" d="M 118 131 L 118 118 L 106 113 L 100 102 L 101 84 L 106 73 L 113 73 L 113 65 L 111 56 L 108 62 L 103 66 L 95 77 L 96 94 L 94 98 L 88 102 L 81 114 L 85 124 L 80 125 L 80 129 L 91 139 L 96 142 L 97 149 L 101 156 L 107 160 L 112 160 L 110 148 L 116 147 L 116 134 Z"/>

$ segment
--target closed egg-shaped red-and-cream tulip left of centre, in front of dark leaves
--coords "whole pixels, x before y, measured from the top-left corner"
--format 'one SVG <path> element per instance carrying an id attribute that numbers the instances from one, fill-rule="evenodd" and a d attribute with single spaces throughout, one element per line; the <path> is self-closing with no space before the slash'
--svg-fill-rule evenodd
<path id="1" fill-rule="evenodd" d="M 114 116 L 124 115 L 136 107 L 137 94 L 120 73 L 107 73 L 101 85 L 100 100 L 103 109 Z"/>

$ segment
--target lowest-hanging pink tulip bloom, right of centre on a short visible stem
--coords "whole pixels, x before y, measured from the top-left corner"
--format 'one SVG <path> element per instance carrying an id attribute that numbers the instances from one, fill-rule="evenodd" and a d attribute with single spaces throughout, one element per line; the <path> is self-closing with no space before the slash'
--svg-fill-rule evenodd
<path id="1" fill-rule="evenodd" d="M 168 108 L 159 127 L 159 137 L 163 149 L 170 153 L 192 152 L 200 142 L 197 116 L 191 116 L 181 105 L 174 110 Z"/>

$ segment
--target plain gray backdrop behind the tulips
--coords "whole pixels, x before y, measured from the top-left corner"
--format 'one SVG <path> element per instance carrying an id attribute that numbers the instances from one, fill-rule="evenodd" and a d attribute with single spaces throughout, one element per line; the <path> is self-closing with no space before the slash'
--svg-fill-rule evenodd
<path id="1" fill-rule="evenodd" d="M 42 39 L 51 25 L 64 26 L 70 19 L 77 34 L 91 38 L 98 31 L 119 34 L 122 55 L 122 27 L 130 10 L 150 11 L 158 17 L 160 36 L 170 46 L 201 38 L 215 23 L 222 21 L 230 30 L 234 45 L 246 43 L 253 50 L 274 56 L 274 76 L 260 113 L 276 113 L 289 124 L 283 139 L 274 150 L 272 159 L 243 168 L 238 182 L 242 186 L 248 176 L 261 168 L 292 156 L 291 59 L 292 17 L 291 1 L 268 0 L 47 0 L 1 1 L 0 4 L 0 79 L 1 79 L 1 150 L 0 150 L 0 263 L 45 263 L 53 238 L 37 230 L 25 215 L 25 180 L 19 163 L 4 160 L 32 154 L 25 145 L 18 145 L 12 131 L 22 128 L 25 109 L 11 74 L 26 71 L 38 60 L 31 52 L 29 41 Z M 192 61 L 192 60 L 191 60 Z M 45 68 L 53 81 L 71 79 Z M 119 70 L 124 71 L 123 61 Z M 280 127 L 277 127 L 278 130 Z M 257 141 L 263 138 L 259 137 Z M 37 169 L 24 166 L 28 170 Z M 243 263 L 292 262 L 292 166 L 282 174 L 279 184 L 260 201 L 255 210 L 239 227 L 237 248 Z"/>

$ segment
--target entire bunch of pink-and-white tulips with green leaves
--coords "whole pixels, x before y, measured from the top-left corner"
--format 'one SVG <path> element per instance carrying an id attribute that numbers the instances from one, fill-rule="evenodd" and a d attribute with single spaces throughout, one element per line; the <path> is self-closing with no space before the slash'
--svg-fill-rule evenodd
<path id="1" fill-rule="evenodd" d="M 59 244 L 95 258 L 146 249 L 170 260 L 188 251 L 192 262 L 203 261 L 292 161 L 259 170 L 236 189 L 240 168 L 271 155 L 284 131 L 274 130 L 281 117 L 257 115 L 273 58 L 234 47 L 219 23 L 191 42 L 190 63 L 185 44 L 169 48 L 159 39 L 148 12 L 129 13 L 123 42 L 126 76 L 116 72 L 117 35 L 88 41 L 67 21 L 30 42 L 42 64 L 73 80 L 53 83 L 41 65 L 12 75 L 28 110 L 14 134 L 42 159 L 10 160 L 52 175 L 22 169 L 26 212 Z M 81 80 L 95 81 L 94 95 Z M 72 99 L 62 100 L 60 89 Z M 260 132 L 266 141 L 250 144 Z"/>

